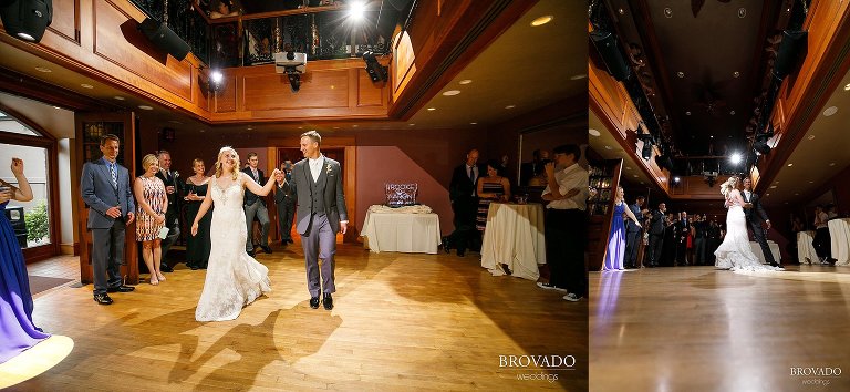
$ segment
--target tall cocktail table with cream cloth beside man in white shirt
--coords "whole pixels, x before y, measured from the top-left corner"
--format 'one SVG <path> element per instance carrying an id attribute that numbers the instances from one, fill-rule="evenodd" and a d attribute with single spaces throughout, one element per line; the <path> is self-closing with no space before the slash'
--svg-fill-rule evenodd
<path id="1" fill-rule="evenodd" d="M 491 203 L 481 241 L 481 267 L 505 275 L 501 265 L 518 278 L 537 280 L 546 264 L 543 207 L 540 204 Z"/>

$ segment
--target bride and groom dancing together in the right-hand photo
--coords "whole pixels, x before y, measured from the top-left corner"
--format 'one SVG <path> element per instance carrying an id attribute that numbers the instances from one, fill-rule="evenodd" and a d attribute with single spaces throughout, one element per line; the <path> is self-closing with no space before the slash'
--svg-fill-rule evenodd
<path id="1" fill-rule="evenodd" d="M 744 195 L 740 192 L 742 183 L 744 185 Z M 761 230 L 763 221 L 767 225 L 768 229 L 770 228 L 770 219 L 767 218 L 767 213 L 761 207 L 758 195 L 753 193 L 750 187 L 751 182 L 749 178 L 740 182 L 736 176 L 729 177 L 729 179 L 721 185 L 721 194 L 726 198 L 728 212 L 726 213 L 726 237 L 714 252 L 717 256 L 715 266 L 719 269 L 733 271 L 782 270 L 774 260 Z M 756 255 L 753 254 L 753 249 L 749 246 L 747 226 L 753 229 L 754 237 L 761 246 L 765 259 L 770 266 L 763 265 Z"/>

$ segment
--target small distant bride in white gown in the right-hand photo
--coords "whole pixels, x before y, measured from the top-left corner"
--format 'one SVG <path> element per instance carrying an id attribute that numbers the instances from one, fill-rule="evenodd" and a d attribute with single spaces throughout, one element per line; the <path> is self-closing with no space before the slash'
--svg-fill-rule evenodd
<path id="1" fill-rule="evenodd" d="M 747 233 L 747 218 L 744 215 L 744 208 L 751 208 L 753 205 L 744 202 L 740 196 L 740 180 L 736 176 L 729 177 L 721 185 L 721 194 L 726 197 L 726 237 L 723 244 L 717 247 L 714 255 L 717 257 L 715 267 L 728 269 L 732 271 L 781 271 L 781 267 L 770 267 L 753 254 L 749 246 L 749 234 Z"/>

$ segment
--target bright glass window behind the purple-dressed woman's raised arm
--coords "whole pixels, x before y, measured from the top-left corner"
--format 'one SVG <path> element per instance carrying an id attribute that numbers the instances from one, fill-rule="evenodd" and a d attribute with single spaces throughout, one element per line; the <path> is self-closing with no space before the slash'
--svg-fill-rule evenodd
<path id="1" fill-rule="evenodd" d="M 23 159 L 23 175 L 32 187 L 33 198 L 25 203 L 10 200 L 4 213 L 12 221 L 22 248 L 51 244 L 48 151 L 0 143 L 0 179 L 18 186 L 11 168 L 12 157 Z"/>

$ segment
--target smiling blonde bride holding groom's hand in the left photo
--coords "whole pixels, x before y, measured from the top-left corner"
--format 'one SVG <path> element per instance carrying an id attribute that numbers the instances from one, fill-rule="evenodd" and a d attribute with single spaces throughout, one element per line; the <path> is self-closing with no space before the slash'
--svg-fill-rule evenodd
<path id="1" fill-rule="evenodd" d="M 239 154 L 234 148 L 218 152 L 216 175 L 210 180 L 209 195 L 201 203 L 191 235 L 198 234 L 198 221 L 210 206 L 210 251 L 207 278 L 200 293 L 195 320 L 227 321 L 239 317 L 242 308 L 271 291 L 269 269 L 248 256 L 245 241 L 248 229 L 242 210 L 245 189 L 266 196 L 274 185 L 276 168 L 265 186 L 260 187 L 250 176 L 239 171 Z"/>

